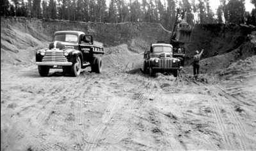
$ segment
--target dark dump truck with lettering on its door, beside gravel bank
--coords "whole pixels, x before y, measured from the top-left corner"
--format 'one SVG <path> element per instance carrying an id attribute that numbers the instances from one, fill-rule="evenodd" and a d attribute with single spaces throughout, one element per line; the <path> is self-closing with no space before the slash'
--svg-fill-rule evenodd
<path id="1" fill-rule="evenodd" d="M 82 68 L 92 72 L 102 70 L 103 44 L 93 41 L 92 35 L 82 31 L 56 31 L 48 49 L 36 51 L 36 65 L 40 76 L 48 76 L 50 68 L 62 68 L 65 74 L 79 76 Z"/>

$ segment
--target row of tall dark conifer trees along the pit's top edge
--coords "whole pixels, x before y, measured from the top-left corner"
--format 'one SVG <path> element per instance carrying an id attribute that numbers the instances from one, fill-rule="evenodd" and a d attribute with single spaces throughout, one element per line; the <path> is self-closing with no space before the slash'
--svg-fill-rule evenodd
<path id="1" fill-rule="evenodd" d="M 157 22 L 172 29 L 177 10 L 189 24 L 234 23 L 256 26 L 255 8 L 246 12 L 245 0 L 220 0 L 214 12 L 210 0 L 1 0 L 1 16 L 83 22 Z M 180 8 L 180 9 L 177 9 Z M 186 15 L 184 15 L 186 13 Z"/>

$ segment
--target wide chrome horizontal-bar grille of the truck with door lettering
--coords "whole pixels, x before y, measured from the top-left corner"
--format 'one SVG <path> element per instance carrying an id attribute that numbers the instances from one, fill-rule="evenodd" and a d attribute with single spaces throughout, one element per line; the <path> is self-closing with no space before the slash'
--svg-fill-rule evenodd
<path id="1" fill-rule="evenodd" d="M 67 58 L 64 56 L 63 51 L 49 50 L 45 52 L 45 56 L 42 62 L 67 62 Z"/>

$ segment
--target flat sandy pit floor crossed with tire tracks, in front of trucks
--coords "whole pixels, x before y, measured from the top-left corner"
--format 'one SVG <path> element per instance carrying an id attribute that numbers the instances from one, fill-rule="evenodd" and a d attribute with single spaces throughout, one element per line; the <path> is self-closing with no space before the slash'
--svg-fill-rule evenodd
<path id="1" fill-rule="evenodd" d="M 256 150 L 256 72 L 207 84 L 1 68 L 1 150 Z"/>

